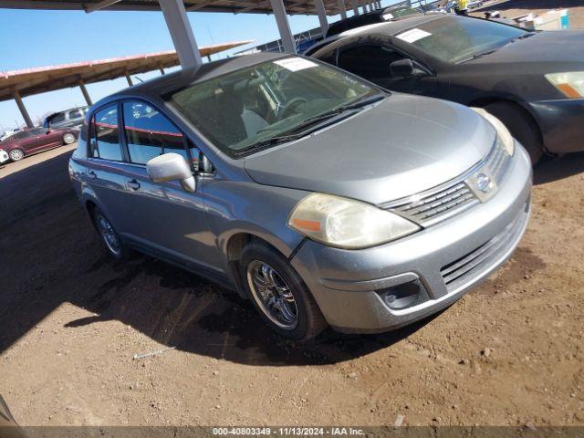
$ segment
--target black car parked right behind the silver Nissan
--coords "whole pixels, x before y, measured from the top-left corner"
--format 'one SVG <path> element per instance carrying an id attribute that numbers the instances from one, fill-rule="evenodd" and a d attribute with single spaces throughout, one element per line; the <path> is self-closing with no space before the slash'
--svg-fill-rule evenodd
<path id="1" fill-rule="evenodd" d="M 484 108 L 537 162 L 584 150 L 583 54 L 584 31 L 440 15 L 354 29 L 311 56 L 386 89 Z"/>

